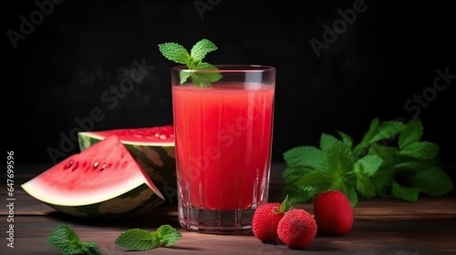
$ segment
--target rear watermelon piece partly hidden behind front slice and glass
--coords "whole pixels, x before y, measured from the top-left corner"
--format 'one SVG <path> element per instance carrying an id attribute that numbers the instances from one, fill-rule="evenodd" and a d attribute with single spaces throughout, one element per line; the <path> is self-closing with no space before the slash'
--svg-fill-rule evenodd
<path id="1" fill-rule="evenodd" d="M 150 128 L 119 128 L 79 132 L 79 148 L 90 148 L 95 143 L 117 136 L 140 164 L 165 199 L 172 204 L 177 198 L 176 157 L 172 125 Z"/>

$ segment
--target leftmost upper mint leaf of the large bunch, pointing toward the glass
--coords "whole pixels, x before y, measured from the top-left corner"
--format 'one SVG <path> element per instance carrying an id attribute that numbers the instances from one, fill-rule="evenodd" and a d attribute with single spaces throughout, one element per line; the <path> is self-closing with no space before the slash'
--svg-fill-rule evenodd
<path id="1" fill-rule="evenodd" d="M 327 168 L 326 156 L 323 151 L 311 146 L 289 149 L 284 153 L 284 159 L 290 167 Z"/>

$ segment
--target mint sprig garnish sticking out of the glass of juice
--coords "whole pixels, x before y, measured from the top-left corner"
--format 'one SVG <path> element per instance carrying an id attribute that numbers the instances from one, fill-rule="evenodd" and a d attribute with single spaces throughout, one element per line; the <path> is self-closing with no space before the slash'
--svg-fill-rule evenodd
<path id="1" fill-rule="evenodd" d="M 167 59 L 174 61 L 178 64 L 187 66 L 191 70 L 218 70 L 217 67 L 202 62 L 202 59 L 210 52 L 217 49 L 210 40 L 202 39 L 197 42 L 190 53 L 177 43 L 164 43 L 159 45 L 159 50 Z M 218 81 L 222 75 L 218 72 L 181 72 L 180 82 L 185 83 L 191 77 L 192 84 L 196 87 L 209 87 L 211 83 Z"/>

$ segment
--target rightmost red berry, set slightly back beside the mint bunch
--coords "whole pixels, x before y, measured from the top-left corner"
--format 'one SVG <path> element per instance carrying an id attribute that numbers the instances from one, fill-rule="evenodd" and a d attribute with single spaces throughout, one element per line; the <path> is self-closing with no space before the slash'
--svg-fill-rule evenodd
<path id="1" fill-rule="evenodd" d="M 318 231 L 342 236 L 353 225 L 353 208 L 344 193 L 339 190 L 327 190 L 316 196 L 314 215 Z"/>

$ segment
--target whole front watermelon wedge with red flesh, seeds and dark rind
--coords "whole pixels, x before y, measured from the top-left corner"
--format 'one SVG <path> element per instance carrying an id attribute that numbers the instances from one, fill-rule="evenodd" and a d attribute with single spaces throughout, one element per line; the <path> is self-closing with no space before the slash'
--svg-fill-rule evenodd
<path id="1" fill-rule="evenodd" d="M 164 201 L 116 136 L 62 160 L 21 187 L 50 207 L 78 217 L 132 216 Z"/>

